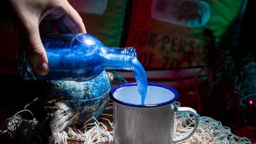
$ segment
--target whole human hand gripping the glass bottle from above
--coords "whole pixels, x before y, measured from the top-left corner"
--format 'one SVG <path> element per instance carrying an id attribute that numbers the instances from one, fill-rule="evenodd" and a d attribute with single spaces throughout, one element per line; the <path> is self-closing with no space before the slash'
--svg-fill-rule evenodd
<path id="1" fill-rule="evenodd" d="M 40 31 L 86 33 L 83 21 L 67 0 L 4 0 L 0 6 L 1 22 L 18 34 L 31 67 L 38 75 L 49 71 Z"/>

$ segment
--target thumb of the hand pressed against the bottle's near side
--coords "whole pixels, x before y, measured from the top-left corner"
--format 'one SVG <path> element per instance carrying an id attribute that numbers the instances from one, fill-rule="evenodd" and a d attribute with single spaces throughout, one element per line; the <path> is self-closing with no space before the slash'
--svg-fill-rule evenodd
<path id="1" fill-rule="evenodd" d="M 49 71 L 49 65 L 40 38 L 38 22 L 27 23 L 23 34 L 22 41 L 32 69 L 38 75 L 46 75 Z"/>

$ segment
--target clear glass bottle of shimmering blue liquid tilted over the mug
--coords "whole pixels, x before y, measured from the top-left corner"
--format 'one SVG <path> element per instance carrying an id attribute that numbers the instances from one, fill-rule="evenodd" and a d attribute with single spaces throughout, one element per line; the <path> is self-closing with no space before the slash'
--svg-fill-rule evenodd
<path id="1" fill-rule="evenodd" d="M 88 81 L 106 69 L 132 70 L 135 49 L 111 48 L 89 34 L 47 34 L 41 36 L 49 73 L 39 76 L 31 69 L 22 46 L 18 50 L 20 75 L 29 80 Z"/>

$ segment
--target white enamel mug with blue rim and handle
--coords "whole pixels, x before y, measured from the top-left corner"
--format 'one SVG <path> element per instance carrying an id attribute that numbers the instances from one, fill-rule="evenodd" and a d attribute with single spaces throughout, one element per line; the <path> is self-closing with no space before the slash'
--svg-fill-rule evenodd
<path id="1" fill-rule="evenodd" d="M 179 93 L 170 86 L 148 83 L 145 105 L 141 105 L 136 83 L 116 86 L 109 96 L 114 106 L 115 144 L 170 144 L 190 138 L 198 127 L 199 117 L 194 109 L 173 105 Z M 191 132 L 174 138 L 174 113 L 177 111 L 190 112 L 196 123 Z"/>

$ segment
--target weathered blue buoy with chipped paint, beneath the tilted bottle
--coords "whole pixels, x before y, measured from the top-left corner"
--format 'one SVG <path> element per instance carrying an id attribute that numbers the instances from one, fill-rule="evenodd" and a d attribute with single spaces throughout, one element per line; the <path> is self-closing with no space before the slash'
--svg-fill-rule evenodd
<path id="1" fill-rule="evenodd" d="M 99 117 L 109 100 L 110 82 L 106 71 L 86 82 L 49 81 L 48 99 L 60 99 L 78 111 L 79 118 Z"/>

